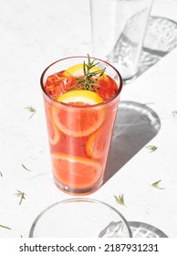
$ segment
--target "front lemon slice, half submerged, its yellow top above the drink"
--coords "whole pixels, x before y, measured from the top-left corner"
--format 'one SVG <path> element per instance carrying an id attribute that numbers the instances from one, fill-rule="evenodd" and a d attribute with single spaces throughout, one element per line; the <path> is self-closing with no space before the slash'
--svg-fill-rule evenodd
<path id="1" fill-rule="evenodd" d="M 103 100 L 94 91 L 68 91 L 57 100 L 70 104 L 67 109 L 66 106 L 54 106 L 52 109 L 53 121 L 57 128 L 68 136 L 88 136 L 97 131 L 104 121 L 105 115 L 99 106 Z M 95 107 L 89 108 L 89 105 L 93 104 Z"/>

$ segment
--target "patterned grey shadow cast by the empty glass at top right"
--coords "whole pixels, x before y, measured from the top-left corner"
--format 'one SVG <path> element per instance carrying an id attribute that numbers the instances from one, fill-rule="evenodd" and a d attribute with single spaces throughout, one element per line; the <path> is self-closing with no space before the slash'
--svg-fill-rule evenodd
<path id="1" fill-rule="evenodd" d="M 123 32 L 118 38 L 114 48 L 108 55 L 109 61 L 112 56 L 114 59 L 119 58 L 120 46 L 121 50 L 130 50 L 130 38 L 132 37 L 132 26 L 136 26 L 139 14 L 130 17 L 129 23 L 124 27 Z M 131 24 L 131 26 L 130 26 Z M 131 42 L 133 45 L 133 42 Z M 174 20 L 162 16 L 150 16 L 147 32 L 144 38 L 144 43 L 141 51 L 139 69 L 136 76 L 138 78 L 147 69 L 150 69 L 166 54 L 170 53 L 173 48 L 177 47 L 177 23 Z M 124 80 L 124 83 L 129 83 L 130 80 Z"/>

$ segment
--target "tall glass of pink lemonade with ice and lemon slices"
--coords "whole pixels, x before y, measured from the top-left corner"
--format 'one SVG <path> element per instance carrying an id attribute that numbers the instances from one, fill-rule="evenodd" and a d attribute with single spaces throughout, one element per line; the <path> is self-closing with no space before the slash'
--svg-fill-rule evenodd
<path id="1" fill-rule="evenodd" d="M 69 65 L 72 59 L 63 61 Z M 60 189 L 78 195 L 102 184 L 122 87 L 118 71 L 103 62 L 104 73 L 97 67 L 96 76 L 89 78 L 92 90 L 80 89 L 85 80 L 80 59 L 87 60 L 78 58 L 78 64 L 66 69 L 59 69 L 59 60 L 52 64 L 58 71 L 48 73 L 51 65 L 41 78 L 54 180 Z"/>

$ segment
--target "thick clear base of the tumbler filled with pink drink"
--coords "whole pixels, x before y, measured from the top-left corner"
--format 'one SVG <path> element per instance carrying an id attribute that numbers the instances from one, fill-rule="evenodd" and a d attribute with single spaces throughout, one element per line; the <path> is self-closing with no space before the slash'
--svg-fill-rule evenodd
<path id="1" fill-rule="evenodd" d="M 89 195 L 89 194 L 97 191 L 99 189 L 99 187 L 101 187 L 101 185 L 103 183 L 103 179 L 101 179 L 99 181 L 99 183 L 97 183 L 93 187 L 86 187 L 86 188 L 81 188 L 81 189 L 65 186 L 65 185 L 61 184 L 60 182 L 58 182 L 55 177 L 54 177 L 54 183 L 60 190 L 62 190 L 65 193 L 68 193 L 69 195 L 83 196 L 83 195 Z"/>

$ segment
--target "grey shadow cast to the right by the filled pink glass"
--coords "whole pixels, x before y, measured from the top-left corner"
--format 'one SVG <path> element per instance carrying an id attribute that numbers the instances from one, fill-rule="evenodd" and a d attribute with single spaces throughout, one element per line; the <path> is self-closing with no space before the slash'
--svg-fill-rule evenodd
<path id="1" fill-rule="evenodd" d="M 145 104 L 120 101 L 103 184 L 159 133 L 161 121 Z"/>

